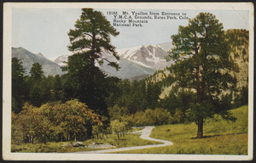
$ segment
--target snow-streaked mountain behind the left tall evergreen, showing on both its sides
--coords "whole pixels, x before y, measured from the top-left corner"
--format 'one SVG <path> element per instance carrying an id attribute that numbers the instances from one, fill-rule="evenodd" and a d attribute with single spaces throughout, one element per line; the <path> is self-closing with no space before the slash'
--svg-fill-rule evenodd
<path id="1" fill-rule="evenodd" d="M 170 66 L 172 62 L 166 62 L 167 50 L 163 47 L 170 47 L 170 43 L 159 45 L 148 45 L 135 48 L 116 49 L 120 56 L 117 60 L 109 53 L 103 54 L 104 58 L 115 61 L 121 67 L 119 71 L 113 67 L 108 66 L 108 63 L 103 65 L 96 65 L 101 70 L 106 72 L 109 76 L 117 76 L 122 79 L 141 79 L 146 76 L 153 75 L 155 70 L 162 70 L 166 66 Z M 68 56 L 72 53 L 66 53 L 56 58 L 52 58 L 56 64 L 63 66 L 67 62 Z"/>

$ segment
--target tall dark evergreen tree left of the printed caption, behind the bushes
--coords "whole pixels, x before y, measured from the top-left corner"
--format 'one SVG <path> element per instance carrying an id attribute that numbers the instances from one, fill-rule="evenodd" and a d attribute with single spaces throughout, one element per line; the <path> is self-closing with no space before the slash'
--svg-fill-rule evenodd
<path id="1" fill-rule="evenodd" d="M 69 57 L 66 70 L 70 74 L 70 79 L 75 81 L 69 83 L 71 87 L 80 90 L 80 92 L 74 92 L 73 96 L 88 104 L 92 110 L 99 109 L 98 104 L 101 103 L 96 96 L 99 95 L 99 90 L 102 90 L 99 83 L 106 77 L 96 67 L 96 63 L 102 65 L 103 62 L 107 62 L 108 65 L 119 69 L 116 62 L 103 57 L 103 53 L 110 53 L 119 59 L 115 47 L 110 43 L 110 36 L 118 35 L 119 32 L 113 28 L 106 17 L 92 8 L 83 8 L 80 19 L 76 21 L 75 29 L 68 32 L 70 39 L 68 49 L 74 55 Z"/>

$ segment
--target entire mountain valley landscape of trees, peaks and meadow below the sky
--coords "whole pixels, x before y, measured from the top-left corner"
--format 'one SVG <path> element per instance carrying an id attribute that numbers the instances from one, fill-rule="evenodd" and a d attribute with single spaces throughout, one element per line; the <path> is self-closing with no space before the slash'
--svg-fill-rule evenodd
<path id="1" fill-rule="evenodd" d="M 82 8 L 70 53 L 12 48 L 11 151 L 247 155 L 249 31 L 201 12 L 175 33 L 115 49 L 120 32 Z"/>

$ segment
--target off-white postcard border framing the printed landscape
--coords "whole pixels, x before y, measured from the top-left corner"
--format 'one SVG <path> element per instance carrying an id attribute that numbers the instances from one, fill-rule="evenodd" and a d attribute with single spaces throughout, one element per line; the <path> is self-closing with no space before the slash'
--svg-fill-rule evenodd
<path id="1" fill-rule="evenodd" d="M 114 5 L 113 5 L 114 4 Z M 249 10 L 248 155 L 39 154 L 10 152 L 12 8 L 157 8 Z M 253 159 L 253 3 L 3 3 L 3 160 L 252 160 Z"/>

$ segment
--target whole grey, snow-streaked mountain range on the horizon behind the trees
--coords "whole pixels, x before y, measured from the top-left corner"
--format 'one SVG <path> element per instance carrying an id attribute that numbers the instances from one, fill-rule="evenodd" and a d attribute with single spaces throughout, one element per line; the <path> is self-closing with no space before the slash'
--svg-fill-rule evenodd
<path id="1" fill-rule="evenodd" d="M 116 49 L 120 56 L 117 60 L 113 55 L 104 53 L 103 57 L 118 62 L 121 67 L 118 71 L 109 66 L 108 63 L 97 65 L 108 76 L 117 76 L 122 79 L 140 80 L 153 75 L 156 70 L 162 70 L 170 66 L 172 62 L 166 62 L 167 49 L 170 49 L 170 43 L 158 45 L 148 45 L 136 48 Z M 62 75 L 61 66 L 65 65 L 68 56 L 72 53 L 63 54 L 54 59 L 47 59 L 42 53 L 32 53 L 25 48 L 12 48 L 12 57 L 21 59 L 26 75 L 29 75 L 32 64 L 38 62 L 42 65 L 45 76 Z"/>

